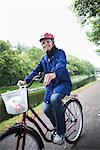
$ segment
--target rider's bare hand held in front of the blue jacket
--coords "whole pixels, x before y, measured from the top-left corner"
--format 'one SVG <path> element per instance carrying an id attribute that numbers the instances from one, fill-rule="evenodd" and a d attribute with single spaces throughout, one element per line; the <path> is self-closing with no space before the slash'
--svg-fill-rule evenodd
<path id="1" fill-rule="evenodd" d="M 45 86 L 49 85 L 51 80 L 53 80 L 55 78 L 56 78 L 56 74 L 55 73 L 45 74 L 45 76 L 44 76 L 44 84 L 45 84 Z"/>

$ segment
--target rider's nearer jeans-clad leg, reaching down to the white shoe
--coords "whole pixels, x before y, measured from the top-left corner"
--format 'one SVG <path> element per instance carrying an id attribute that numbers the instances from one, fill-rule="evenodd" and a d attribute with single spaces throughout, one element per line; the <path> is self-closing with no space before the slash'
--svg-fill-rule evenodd
<path id="1" fill-rule="evenodd" d="M 63 135 L 66 131 L 64 106 L 61 102 L 61 99 L 64 98 L 64 96 L 65 94 L 62 93 L 54 93 L 50 98 L 58 135 Z"/>

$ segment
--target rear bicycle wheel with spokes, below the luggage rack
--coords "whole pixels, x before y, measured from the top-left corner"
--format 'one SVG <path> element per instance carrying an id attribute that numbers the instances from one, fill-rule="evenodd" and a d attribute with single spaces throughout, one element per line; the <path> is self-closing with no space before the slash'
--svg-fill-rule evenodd
<path id="1" fill-rule="evenodd" d="M 72 144 L 79 139 L 83 128 L 82 106 L 77 99 L 70 99 L 65 104 L 65 121 L 65 140 Z"/>

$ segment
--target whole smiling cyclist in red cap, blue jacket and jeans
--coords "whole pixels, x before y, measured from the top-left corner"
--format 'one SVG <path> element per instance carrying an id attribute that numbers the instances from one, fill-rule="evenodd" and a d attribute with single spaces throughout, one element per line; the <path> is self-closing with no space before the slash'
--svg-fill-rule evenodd
<path id="1" fill-rule="evenodd" d="M 39 72 L 44 72 L 44 112 L 56 129 L 53 142 L 61 144 L 66 132 L 64 106 L 61 99 L 65 95 L 70 95 L 72 83 L 66 69 L 65 52 L 55 46 L 54 36 L 45 33 L 40 38 L 40 42 L 46 54 L 21 84 L 28 84 Z"/>

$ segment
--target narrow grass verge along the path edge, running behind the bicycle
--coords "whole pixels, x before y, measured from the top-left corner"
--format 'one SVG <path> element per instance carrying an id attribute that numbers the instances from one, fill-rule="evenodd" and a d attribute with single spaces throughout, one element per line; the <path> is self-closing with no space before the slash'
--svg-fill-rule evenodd
<path id="1" fill-rule="evenodd" d="M 93 84 L 97 83 L 97 82 L 100 82 L 100 80 L 96 80 L 94 82 L 90 82 L 89 84 L 79 88 L 79 89 L 76 89 L 74 91 L 72 91 L 72 94 L 77 94 L 77 92 L 81 92 L 82 90 L 92 86 Z M 43 102 L 38 105 L 37 107 L 34 108 L 34 110 L 38 113 L 38 114 L 41 114 L 43 112 Z M 32 113 L 31 111 L 28 111 L 28 115 L 29 116 L 32 116 Z M 10 118 L 6 121 L 3 121 L 0 123 L 0 132 L 3 132 L 4 130 L 6 130 L 7 128 L 9 128 L 11 125 L 13 125 L 16 121 L 20 122 L 21 121 L 21 118 L 22 118 L 22 115 L 18 115 L 18 116 L 15 116 L 13 118 Z"/>

